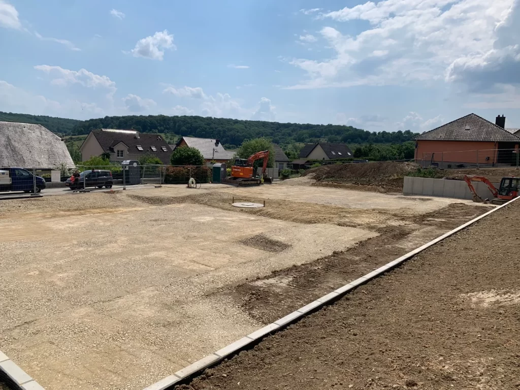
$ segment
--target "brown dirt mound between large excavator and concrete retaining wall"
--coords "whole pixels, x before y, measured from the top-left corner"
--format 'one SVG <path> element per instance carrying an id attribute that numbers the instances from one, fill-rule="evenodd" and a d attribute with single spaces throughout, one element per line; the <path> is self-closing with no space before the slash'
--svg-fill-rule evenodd
<path id="1" fill-rule="evenodd" d="M 306 175 L 314 174 L 318 185 L 349 184 L 370 186 L 383 192 L 402 191 L 403 177 L 415 171 L 419 165 L 410 162 L 391 161 L 367 164 L 324 165 L 309 170 Z"/>

